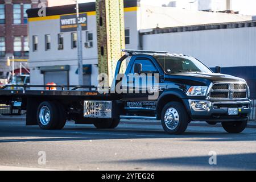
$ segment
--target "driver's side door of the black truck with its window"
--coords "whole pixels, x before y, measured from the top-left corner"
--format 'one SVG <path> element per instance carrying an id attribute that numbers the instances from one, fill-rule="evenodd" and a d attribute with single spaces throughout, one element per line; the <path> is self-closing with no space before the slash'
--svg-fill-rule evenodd
<path id="1" fill-rule="evenodd" d="M 136 64 L 141 65 L 139 73 L 138 69 L 135 68 Z M 148 100 L 150 95 L 148 89 L 154 88 L 154 83 L 158 82 L 158 80 L 155 80 L 154 74 L 159 74 L 159 68 L 150 57 L 135 56 L 134 59 L 131 58 L 130 66 L 127 67 L 125 73 L 126 80 L 122 81 L 123 90 L 126 89 L 127 92 L 122 94 L 122 100 L 126 108 L 144 110 L 150 107 L 154 109 L 155 100 Z"/>

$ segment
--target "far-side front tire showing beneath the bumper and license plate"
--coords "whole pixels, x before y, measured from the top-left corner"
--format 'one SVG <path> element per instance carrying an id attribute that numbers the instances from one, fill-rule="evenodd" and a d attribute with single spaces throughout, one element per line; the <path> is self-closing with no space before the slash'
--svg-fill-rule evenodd
<path id="1" fill-rule="evenodd" d="M 224 130 L 228 133 L 241 133 L 247 126 L 247 121 L 222 122 Z"/>

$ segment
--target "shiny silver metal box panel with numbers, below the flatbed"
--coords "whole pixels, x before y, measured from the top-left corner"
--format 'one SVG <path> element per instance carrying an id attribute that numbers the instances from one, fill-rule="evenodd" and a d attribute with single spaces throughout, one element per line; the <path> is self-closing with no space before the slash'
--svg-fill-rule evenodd
<path id="1" fill-rule="evenodd" d="M 85 118 L 112 118 L 112 101 L 84 101 Z"/>

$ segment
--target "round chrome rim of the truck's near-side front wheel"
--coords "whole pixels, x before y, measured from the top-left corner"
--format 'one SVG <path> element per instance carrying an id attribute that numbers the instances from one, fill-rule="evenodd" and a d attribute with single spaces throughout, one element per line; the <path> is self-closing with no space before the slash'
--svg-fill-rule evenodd
<path id="1" fill-rule="evenodd" d="M 175 108 L 170 107 L 166 110 L 166 113 L 164 114 L 164 123 L 170 130 L 175 130 L 179 125 L 179 113 Z"/>

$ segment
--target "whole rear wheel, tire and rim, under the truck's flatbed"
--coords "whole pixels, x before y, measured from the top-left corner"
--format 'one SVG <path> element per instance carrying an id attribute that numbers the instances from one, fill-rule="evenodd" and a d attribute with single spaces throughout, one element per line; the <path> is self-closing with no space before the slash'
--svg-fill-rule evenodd
<path id="1" fill-rule="evenodd" d="M 38 107 L 37 120 L 41 129 L 56 129 L 57 125 L 59 124 L 59 110 L 57 109 L 55 102 L 42 102 Z"/>

